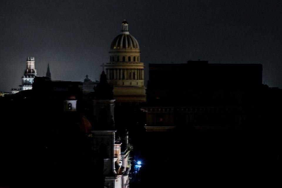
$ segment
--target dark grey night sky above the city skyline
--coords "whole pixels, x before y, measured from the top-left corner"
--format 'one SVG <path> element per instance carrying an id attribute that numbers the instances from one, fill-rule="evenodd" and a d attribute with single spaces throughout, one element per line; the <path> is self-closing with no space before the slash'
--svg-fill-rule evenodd
<path id="1" fill-rule="evenodd" d="M 21 84 L 27 56 L 35 57 L 38 76 L 49 63 L 54 80 L 98 79 L 123 19 L 147 67 L 261 63 L 263 82 L 282 88 L 281 0 L 0 0 L 0 8 L 0 91 Z"/>

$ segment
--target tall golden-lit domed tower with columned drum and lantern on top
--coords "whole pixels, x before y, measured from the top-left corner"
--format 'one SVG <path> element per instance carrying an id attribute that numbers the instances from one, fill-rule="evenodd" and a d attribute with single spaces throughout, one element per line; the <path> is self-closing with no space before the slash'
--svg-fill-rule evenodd
<path id="1" fill-rule="evenodd" d="M 143 102 L 144 63 L 140 62 L 140 47 L 129 34 L 128 23 L 122 22 L 121 33 L 114 38 L 110 49 L 110 63 L 105 65 L 109 83 L 114 87 L 117 102 Z"/>

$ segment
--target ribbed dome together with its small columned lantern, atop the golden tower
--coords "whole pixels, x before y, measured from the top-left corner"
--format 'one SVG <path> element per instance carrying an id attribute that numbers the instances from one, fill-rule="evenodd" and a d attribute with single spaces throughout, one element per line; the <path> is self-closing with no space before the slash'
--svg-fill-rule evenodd
<path id="1" fill-rule="evenodd" d="M 139 43 L 134 36 L 129 34 L 128 23 L 122 21 L 121 34 L 116 36 L 111 44 L 111 51 L 140 51 Z"/>

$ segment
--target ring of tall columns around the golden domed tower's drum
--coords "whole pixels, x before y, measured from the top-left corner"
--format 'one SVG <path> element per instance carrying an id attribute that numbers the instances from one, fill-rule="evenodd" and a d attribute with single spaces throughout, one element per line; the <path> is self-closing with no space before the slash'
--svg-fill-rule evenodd
<path id="1" fill-rule="evenodd" d="M 144 69 L 113 68 L 107 69 L 108 80 L 144 80 Z"/>

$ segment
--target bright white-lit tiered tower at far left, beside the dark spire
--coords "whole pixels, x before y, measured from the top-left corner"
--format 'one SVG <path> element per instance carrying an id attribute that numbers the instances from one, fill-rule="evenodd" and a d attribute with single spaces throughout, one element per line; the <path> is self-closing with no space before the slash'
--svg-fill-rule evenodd
<path id="1" fill-rule="evenodd" d="M 34 57 L 26 58 L 26 70 L 22 79 L 22 85 L 19 85 L 19 90 L 32 89 L 33 79 L 36 76 L 36 69 L 34 67 Z"/>

